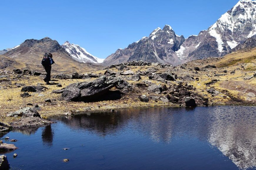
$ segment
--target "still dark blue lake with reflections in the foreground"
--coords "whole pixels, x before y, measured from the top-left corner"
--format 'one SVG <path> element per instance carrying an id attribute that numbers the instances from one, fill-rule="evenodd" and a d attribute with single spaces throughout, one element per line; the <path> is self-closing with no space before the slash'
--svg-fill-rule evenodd
<path id="1" fill-rule="evenodd" d="M 11 169 L 256 169 L 256 107 L 129 109 L 52 121 L 3 136 L 18 140 L 19 149 L 5 154 Z"/>

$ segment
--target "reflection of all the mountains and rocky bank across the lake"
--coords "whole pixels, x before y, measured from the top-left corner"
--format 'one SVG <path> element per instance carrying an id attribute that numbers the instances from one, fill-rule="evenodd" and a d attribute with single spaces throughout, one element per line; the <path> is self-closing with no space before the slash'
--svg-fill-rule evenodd
<path id="1" fill-rule="evenodd" d="M 117 113 L 61 118 L 73 129 L 105 136 L 125 126 L 154 142 L 174 137 L 208 141 L 239 168 L 256 167 L 256 114 L 254 107 L 196 107 L 129 109 Z"/>

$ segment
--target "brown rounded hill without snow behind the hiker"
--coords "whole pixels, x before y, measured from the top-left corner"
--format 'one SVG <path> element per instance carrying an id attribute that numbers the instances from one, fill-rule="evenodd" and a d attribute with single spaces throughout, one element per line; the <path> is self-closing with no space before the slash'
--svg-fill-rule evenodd
<path id="1" fill-rule="evenodd" d="M 4 56 L 25 63 L 27 69 L 43 71 L 41 61 L 44 53 L 53 54 L 53 60 L 56 63 L 52 67 L 53 71 L 86 71 L 98 67 L 90 63 L 77 62 L 56 40 L 48 37 L 41 40 L 27 39 L 21 45 L 5 53 Z"/>

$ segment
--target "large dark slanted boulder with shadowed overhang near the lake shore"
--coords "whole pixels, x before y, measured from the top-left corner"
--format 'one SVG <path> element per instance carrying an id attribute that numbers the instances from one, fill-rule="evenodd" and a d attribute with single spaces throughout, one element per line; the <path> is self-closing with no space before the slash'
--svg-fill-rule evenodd
<path id="1" fill-rule="evenodd" d="M 67 101 L 93 101 L 106 96 L 113 87 L 128 92 L 132 86 L 121 78 L 115 76 L 106 77 L 105 75 L 91 82 L 73 83 L 61 90 L 53 91 L 56 94 L 62 94 L 63 100 Z"/>

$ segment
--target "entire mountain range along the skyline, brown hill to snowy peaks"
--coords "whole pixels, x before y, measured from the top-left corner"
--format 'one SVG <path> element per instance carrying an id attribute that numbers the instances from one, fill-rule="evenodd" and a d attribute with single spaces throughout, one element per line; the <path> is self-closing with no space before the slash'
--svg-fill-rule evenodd
<path id="1" fill-rule="evenodd" d="M 209 29 L 197 36 L 184 38 L 175 34 L 170 25 L 157 28 L 148 37 L 117 49 L 105 60 L 86 52 L 79 45 L 63 45 L 45 37 L 41 40 L 28 39 L 12 49 L 0 51 L 0 55 L 26 61 L 26 56 L 42 56 L 45 52 L 56 53 L 77 63 L 93 63 L 108 66 L 130 61 L 158 62 L 172 65 L 183 64 L 207 57 L 221 57 L 236 50 L 255 47 L 256 2 L 241 0 L 221 16 Z M 29 55 L 28 55 L 29 54 Z M 29 61 L 27 61 L 29 62 Z"/>

